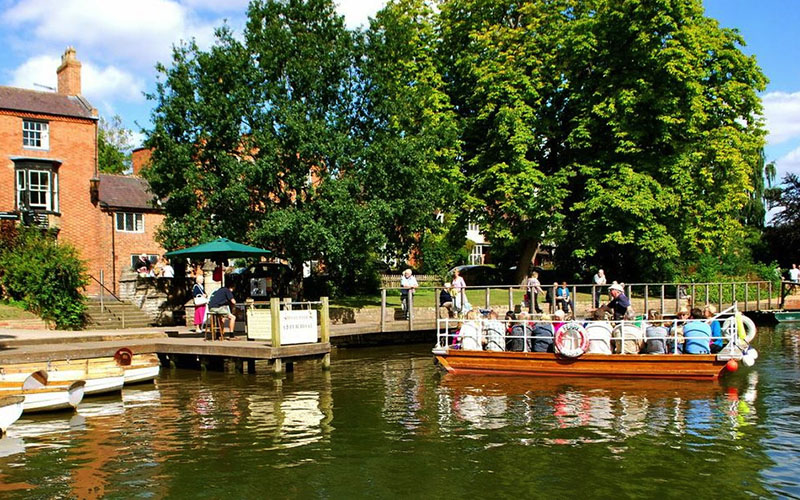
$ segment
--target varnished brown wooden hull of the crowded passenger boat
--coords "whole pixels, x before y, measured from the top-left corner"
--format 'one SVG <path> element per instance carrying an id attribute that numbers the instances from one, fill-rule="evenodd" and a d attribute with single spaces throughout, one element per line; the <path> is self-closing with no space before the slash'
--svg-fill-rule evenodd
<path id="1" fill-rule="evenodd" d="M 563 358 L 539 352 L 435 349 L 434 355 L 445 370 L 454 374 L 623 379 L 717 380 L 727 363 L 713 354 L 584 354 Z"/>

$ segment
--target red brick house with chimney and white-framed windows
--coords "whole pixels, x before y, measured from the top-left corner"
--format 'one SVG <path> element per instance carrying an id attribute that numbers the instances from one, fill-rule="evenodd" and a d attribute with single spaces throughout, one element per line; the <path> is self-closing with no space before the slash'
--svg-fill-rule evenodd
<path id="1" fill-rule="evenodd" d="M 141 179 L 98 174 L 98 114 L 81 96 L 75 49 L 56 73 L 57 92 L 0 86 L 0 213 L 53 229 L 113 290 L 130 254 L 163 253 L 153 239 L 163 216 Z M 98 291 L 92 280 L 87 292 Z"/>

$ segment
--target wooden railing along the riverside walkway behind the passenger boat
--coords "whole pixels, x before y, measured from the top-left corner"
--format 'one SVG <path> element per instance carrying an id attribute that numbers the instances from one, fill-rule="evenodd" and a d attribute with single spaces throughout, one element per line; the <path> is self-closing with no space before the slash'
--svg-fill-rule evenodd
<path id="1" fill-rule="evenodd" d="M 789 282 L 791 283 L 791 282 Z M 671 316 L 683 308 L 702 308 L 714 305 L 721 311 L 734 303 L 742 311 L 772 310 L 781 303 L 783 293 L 779 293 L 772 281 L 736 281 L 708 283 L 621 283 L 625 294 L 638 315 L 656 310 L 662 316 Z M 794 284 L 797 285 L 797 284 Z M 541 285 L 540 293 L 532 293 L 524 285 L 467 286 L 455 291 L 450 289 L 452 304 L 440 305 L 439 295 L 442 286 L 418 287 L 402 297 L 401 287 L 381 289 L 380 331 L 396 330 L 397 323 L 404 322 L 406 329 L 429 325 L 437 318 L 460 317 L 469 309 L 497 309 L 501 316 L 505 311 L 526 311 L 536 313 L 538 305 L 543 313 L 553 314 L 558 309 L 566 309 L 568 315 L 576 318 L 589 316 L 599 305 L 608 302 L 610 285 L 568 283 L 568 298 L 562 300 L 554 290 L 553 284 Z M 563 288 L 559 285 L 558 288 Z M 533 300 L 531 300 L 533 299 Z M 394 314 L 387 314 L 394 311 Z M 395 325 L 391 325 L 394 323 Z"/>

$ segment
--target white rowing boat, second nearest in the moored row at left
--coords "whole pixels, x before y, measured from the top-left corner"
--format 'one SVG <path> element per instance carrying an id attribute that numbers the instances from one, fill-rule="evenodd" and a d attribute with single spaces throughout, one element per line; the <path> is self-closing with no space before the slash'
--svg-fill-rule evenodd
<path id="1" fill-rule="evenodd" d="M 39 370 L 23 382 L 0 382 L 0 396 L 22 396 L 25 413 L 74 409 L 83 400 L 85 386 L 83 380 L 53 382 Z"/>

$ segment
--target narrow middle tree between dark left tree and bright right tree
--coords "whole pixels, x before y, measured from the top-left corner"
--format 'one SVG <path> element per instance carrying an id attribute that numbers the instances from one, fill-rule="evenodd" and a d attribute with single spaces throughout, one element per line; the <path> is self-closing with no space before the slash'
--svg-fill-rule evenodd
<path id="1" fill-rule="evenodd" d="M 397 0 L 371 20 L 361 49 L 365 113 L 358 171 L 366 196 L 382 207 L 387 260 L 405 261 L 423 238 L 444 241 L 449 226 L 435 222 L 435 211 L 452 211 L 461 180 L 458 124 L 437 48 L 431 7 Z M 428 254 L 418 254 L 423 266 Z"/>

